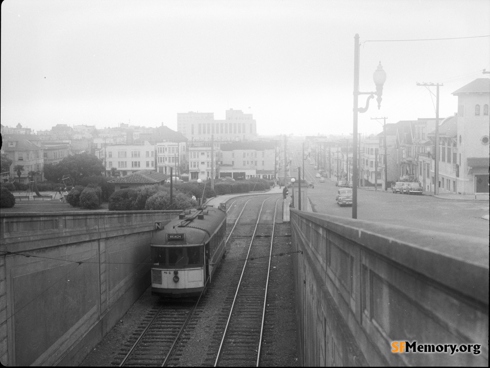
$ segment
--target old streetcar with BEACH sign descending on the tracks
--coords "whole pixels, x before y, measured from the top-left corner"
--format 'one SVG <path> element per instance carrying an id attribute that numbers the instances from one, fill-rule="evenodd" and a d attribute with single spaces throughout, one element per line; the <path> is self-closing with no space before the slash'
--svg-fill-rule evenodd
<path id="1" fill-rule="evenodd" d="M 226 251 L 226 205 L 186 209 L 150 242 L 151 294 L 197 297 Z"/>

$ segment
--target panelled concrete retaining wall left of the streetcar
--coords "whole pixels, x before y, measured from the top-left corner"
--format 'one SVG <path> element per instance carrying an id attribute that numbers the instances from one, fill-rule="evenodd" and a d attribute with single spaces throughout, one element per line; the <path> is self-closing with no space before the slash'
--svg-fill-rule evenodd
<path id="1" fill-rule="evenodd" d="M 78 365 L 148 287 L 155 223 L 177 212 L 1 214 L 2 365 Z"/>

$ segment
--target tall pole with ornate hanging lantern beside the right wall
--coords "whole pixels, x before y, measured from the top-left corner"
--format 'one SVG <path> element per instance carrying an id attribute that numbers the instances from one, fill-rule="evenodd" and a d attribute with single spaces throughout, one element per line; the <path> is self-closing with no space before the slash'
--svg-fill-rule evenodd
<path id="1" fill-rule="evenodd" d="M 378 68 L 373 73 L 374 84 L 376 85 L 376 92 L 359 92 L 359 34 L 356 33 L 354 36 L 354 119 L 353 119 L 353 131 L 352 138 L 352 157 L 357 157 L 357 118 L 358 113 L 365 113 L 369 108 L 369 100 L 377 96 L 376 101 L 378 101 L 378 110 L 381 108 L 381 96 L 383 94 L 383 84 L 386 81 L 386 72 L 381 66 L 381 62 Z M 368 94 L 368 99 L 366 100 L 366 107 L 359 108 L 358 100 L 360 94 Z M 357 183 L 357 162 L 353 160 L 352 167 L 352 183 Z M 357 185 L 352 185 L 352 218 L 357 219 Z"/>

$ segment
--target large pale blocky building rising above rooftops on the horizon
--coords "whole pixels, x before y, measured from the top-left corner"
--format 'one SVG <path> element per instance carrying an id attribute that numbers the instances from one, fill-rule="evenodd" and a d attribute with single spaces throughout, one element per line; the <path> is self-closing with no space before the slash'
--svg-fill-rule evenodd
<path id="1" fill-rule="evenodd" d="M 256 140 L 257 123 L 241 110 L 226 110 L 224 120 L 215 120 L 213 113 L 178 113 L 177 132 L 191 141 Z"/>

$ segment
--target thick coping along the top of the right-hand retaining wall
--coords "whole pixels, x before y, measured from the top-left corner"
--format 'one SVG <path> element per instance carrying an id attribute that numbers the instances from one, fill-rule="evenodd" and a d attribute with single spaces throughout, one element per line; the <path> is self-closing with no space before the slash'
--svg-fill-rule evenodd
<path id="1" fill-rule="evenodd" d="M 295 216 L 489 305 L 488 240 L 291 209 Z"/>

